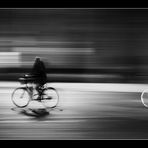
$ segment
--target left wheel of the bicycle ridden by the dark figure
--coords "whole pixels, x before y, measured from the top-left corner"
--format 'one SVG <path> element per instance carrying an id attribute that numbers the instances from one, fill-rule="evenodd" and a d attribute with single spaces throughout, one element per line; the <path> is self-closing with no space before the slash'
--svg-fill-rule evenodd
<path id="1" fill-rule="evenodd" d="M 26 88 L 17 88 L 11 96 L 12 102 L 20 108 L 26 107 L 30 102 L 30 95 Z"/>

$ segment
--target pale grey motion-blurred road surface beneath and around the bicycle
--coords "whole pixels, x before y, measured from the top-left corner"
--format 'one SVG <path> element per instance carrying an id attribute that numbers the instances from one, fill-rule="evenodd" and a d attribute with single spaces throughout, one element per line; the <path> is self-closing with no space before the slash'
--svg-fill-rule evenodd
<path id="1" fill-rule="evenodd" d="M 41 103 L 19 109 L 11 102 L 17 82 L 0 82 L 1 140 L 148 139 L 148 109 L 140 100 L 148 85 L 50 85 L 59 92 L 59 105 L 39 116 L 29 109 L 43 108 Z"/>

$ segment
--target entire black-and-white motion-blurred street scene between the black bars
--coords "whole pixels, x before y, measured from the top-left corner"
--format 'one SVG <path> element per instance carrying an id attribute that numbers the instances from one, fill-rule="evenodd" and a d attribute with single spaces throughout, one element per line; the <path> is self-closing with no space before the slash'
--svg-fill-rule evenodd
<path id="1" fill-rule="evenodd" d="M 148 139 L 148 9 L 0 8 L 0 140 Z"/>

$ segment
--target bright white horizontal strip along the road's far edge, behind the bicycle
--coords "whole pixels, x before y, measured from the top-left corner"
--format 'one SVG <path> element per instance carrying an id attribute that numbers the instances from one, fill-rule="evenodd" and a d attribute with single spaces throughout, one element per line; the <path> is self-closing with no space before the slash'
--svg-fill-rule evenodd
<path id="1" fill-rule="evenodd" d="M 148 84 L 48 83 L 47 85 L 55 87 L 59 90 L 73 90 L 73 91 L 142 92 L 143 90 L 148 89 Z M 7 89 L 7 88 L 16 88 L 20 86 L 22 85 L 19 82 L 0 82 L 0 88 Z"/>

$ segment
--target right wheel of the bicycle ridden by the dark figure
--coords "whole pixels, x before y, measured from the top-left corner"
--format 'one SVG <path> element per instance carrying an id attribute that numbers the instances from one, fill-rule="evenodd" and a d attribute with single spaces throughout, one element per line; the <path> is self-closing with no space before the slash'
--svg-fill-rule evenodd
<path id="1" fill-rule="evenodd" d="M 48 87 L 43 90 L 42 102 L 45 107 L 54 108 L 59 102 L 59 95 L 55 88 Z"/>

